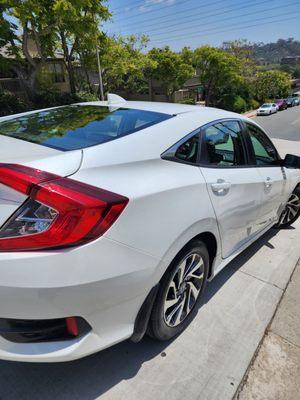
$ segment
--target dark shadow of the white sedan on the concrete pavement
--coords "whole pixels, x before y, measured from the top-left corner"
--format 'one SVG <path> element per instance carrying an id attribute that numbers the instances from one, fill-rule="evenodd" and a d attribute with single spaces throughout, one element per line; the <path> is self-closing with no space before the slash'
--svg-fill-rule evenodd
<path id="1" fill-rule="evenodd" d="M 272 246 L 269 241 L 277 232 L 275 229 L 267 232 L 221 271 L 207 285 L 203 303 L 208 302 L 261 247 Z M 164 350 L 170 343 L 156 342 L 148 337 L 138 344 L 128 340 L 69 363 L 0 361 L 0 399 L 94 400 L 119 382 L 136 376 L 148 360 L 164 357 Z M 126 398 L 126 393 L 123 397 Z"/>

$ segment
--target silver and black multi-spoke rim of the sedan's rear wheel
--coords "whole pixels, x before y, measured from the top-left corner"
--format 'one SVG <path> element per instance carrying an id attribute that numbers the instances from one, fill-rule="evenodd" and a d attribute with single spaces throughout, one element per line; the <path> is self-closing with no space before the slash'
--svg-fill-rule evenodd
<path id="1" fill-rule="evenodd" d="M 204 261 L 191 253 L 178 265 L 170 281 L 164 301 L 164 320 L 175 327 L 190 314 L 204 282 Z"/>

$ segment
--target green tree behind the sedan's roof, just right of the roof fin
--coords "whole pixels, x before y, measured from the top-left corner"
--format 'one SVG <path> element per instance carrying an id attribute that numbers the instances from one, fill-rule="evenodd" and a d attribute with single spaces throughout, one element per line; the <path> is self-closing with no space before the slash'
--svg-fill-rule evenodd
<path id="1" fill-rule="evenodd" d="M 194 68 L 186 61 L 182 54 L 173 52 L 169 47 L 162 49 L 153 48 L 148 56 L 153 62 L 152 68 L 148 69 L 146 76 L 158 80 L 164 88 L 169 101 L 176 90 L 189 79 Z"/>

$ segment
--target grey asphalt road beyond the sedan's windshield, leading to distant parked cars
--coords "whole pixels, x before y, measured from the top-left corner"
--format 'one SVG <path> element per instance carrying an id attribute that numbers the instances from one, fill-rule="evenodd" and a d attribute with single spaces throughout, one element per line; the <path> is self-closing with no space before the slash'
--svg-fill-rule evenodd
<path id="1" fill-rule="evenodd" d="M 271 138 L 300 141 L 300 106 L 254 119 Z"/>

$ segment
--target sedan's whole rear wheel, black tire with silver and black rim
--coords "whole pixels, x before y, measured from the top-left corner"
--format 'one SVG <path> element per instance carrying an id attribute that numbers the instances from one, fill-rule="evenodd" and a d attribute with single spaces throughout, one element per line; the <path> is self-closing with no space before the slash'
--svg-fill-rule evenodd
<path id="1" fill-rule="evenodd" d="M 189 325 L 197 314 L 208 271 L 207 248 L 193 240 L 175 257 L 160 281 L 147 332 L 152 338 L 169 340 Z"/>

